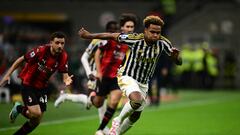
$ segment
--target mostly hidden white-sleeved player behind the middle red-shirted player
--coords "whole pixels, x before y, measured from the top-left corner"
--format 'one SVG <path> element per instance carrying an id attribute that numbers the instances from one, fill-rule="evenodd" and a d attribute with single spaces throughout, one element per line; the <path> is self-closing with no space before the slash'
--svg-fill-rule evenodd
<path id="1" fill-rule="evenodd" d="M 116 21 L 109 21 L 106 24 L 106 32 L 116 32 L 118 30 L 118 24 Z M 85 52 L 83 53 L 81 57 L 81 62 L 83 64 L 83 67 L 85 69 L 85 72 L 87 74 L 87 77 L 89 79 L 88 81 L 88 91 L 95 91 L 96 90 L 96 64 L 95 64 L 95 53 L 98 50 L 98 47 L 102 44 L 105 44 L 107 41 L 106 40 L 98 40 L 98 39 L 93 39 Z M 100 57 L 100 56 L 97 56 Z M 60 96 L 57 98 L 57 100 L 54 103 L 55 107 L 58 107 L 61 103 L 64 101 L 72 101 L 72 102 L 78 102 L 82 103 L 89 109 L 89 104 L 87 104 L 87 95 L 85 94 L 68 94 L 68 93 L 62 93 Z M 103 105 L 98 108 L 99 112 L 99 119 L 100 123 L 102 122 L 104 113 L 106 112 L 106 106 Z M 108 132 L 108 128 L 104 128 L 104 132 Z"/>

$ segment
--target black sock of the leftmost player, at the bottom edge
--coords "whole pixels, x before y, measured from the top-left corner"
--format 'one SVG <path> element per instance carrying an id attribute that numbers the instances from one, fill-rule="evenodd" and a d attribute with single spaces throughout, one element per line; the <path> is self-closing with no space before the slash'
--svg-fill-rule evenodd
<path id="1" fill-rule="evenodd" d="M 30 124 L 30 122 L 27 121 L 27 122 L 25 122 L 25 123 L 23 124 L 23 126 L 22 126 L 17 132 L 15 132 L 13 135 L 26 135 L 26 134 L 32 132 L 36 127 L 37 127 L 37 125 L 36 125 L 36 126 L 32 126 L 32 125 Z"/>

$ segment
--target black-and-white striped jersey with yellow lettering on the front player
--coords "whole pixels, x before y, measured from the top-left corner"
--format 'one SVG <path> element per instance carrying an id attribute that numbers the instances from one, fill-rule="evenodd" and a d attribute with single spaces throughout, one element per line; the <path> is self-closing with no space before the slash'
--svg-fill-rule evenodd
<path id="1" fill-rule="evenodd" d="M 119 73 L 130 76 L 142 84 L 147 84 L 152 78 L 162 51 L 171 55 L 171 42 L 163 36 L 154 44 L 147 44 L 143 33 L 120 34 L 118 41 L 127 44 L 131 49 L 127 52 L 126 61 Z"/>

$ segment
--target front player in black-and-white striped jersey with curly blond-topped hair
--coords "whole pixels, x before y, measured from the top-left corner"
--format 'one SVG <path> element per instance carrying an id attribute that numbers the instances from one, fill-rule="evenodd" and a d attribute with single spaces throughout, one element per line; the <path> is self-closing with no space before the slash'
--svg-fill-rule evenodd
<path id="1" fill-rule="evenodd" d="M 120 114 L 113 119 L 111 135 L 125 133 L 140 118 L 146 104 L 148 83 L 161 52 L 165 51 L 177 65 L 182 64 L 180 51 L 172 47 L 168 39 L 161 36 L 163 20 L 151 15 L 143 20 L 143 24 L 144 33 L 141 34 L 90 33 L 84 28 L 79 30 L 82 38 L 114 39 L 128 44 L 131 49 L 118 78 L 118 84 L 125 91 L 129 101 L 124 105 Z"/>

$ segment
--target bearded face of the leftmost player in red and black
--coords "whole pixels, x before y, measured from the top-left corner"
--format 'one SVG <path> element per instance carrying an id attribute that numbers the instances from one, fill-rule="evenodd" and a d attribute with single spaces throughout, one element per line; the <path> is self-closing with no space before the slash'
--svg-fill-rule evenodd
<path id="1" fill-rule="evenodd" d="M 50 41 L 52 50 L 55 54 L 59 54 L 63 51 L 64 45 L 65 45 L 65 39 L 64 38 L 54 38 L 52 41 Z"/>

